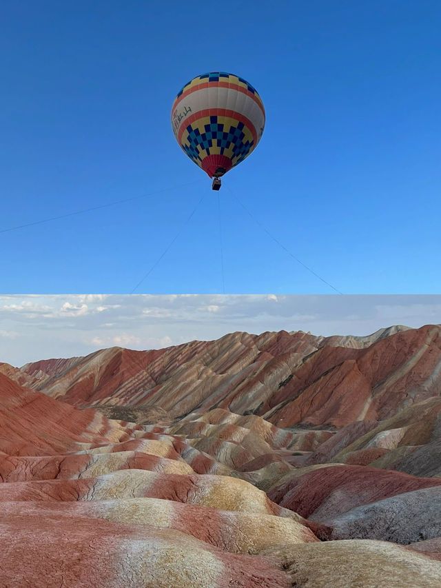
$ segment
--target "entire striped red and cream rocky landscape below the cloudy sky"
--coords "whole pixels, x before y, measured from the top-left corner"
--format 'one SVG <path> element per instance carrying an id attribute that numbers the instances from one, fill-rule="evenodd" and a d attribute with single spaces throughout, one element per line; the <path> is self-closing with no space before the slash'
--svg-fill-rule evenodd
<path id="1" fill-rule="evenodd" d="M 441 586 L 441 327 L 0 363 L 0 587 Z"/>

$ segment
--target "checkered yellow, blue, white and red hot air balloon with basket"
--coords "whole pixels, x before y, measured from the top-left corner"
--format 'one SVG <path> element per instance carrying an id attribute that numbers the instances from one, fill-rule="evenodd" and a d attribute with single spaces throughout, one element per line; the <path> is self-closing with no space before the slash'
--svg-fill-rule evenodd
<path id="1" fill-rule="evenodd" d="M 172 106 L 176 141 L 219 190 L 226 174 L 256 148 L 265 127 L 265 109 L 255 88 L 226 72 L 197 76 Z"/>

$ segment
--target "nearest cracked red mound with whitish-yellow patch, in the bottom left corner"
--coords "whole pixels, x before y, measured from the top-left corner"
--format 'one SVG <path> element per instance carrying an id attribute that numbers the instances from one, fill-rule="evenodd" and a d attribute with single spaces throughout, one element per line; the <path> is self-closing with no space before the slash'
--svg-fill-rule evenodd
<path id="1" fill-rule="evenodd" d="M 176 530 L 75 516 L 2 520 L 3 586 L 287 588 L 267 558 L 236 556 Z"/>

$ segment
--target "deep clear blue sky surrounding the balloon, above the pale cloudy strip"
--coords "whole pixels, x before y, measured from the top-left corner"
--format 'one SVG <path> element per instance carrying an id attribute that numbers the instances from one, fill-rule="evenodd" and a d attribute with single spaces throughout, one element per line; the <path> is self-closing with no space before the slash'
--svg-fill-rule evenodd
<path id="1" fill-rule="evenodd" d="M 219 193 L 226 293 L 335 293 L 235 196 L 345 294 L 440 292 L 438 0 L 5 0 L 0 23 L 0 230 L 152 193 L 0 233 L 0 292 L 128 294 L 203 194 L 136 293 L 223 292 L 217 196 L 170 127 L 210 70 L 267 111 Z"/>

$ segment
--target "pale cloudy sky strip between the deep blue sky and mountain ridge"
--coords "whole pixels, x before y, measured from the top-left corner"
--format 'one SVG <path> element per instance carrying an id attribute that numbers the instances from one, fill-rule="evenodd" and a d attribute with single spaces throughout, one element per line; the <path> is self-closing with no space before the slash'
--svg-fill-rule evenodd
<path id="1" fill-rule="evenodd" d="M 21 366 L 103 347 L 152 349 L 234 331 L 368 335 L 441 323 L 441 295 L 60 294 L 0 296 L 0 362 Z"/>

